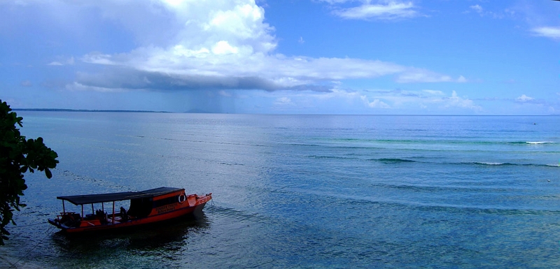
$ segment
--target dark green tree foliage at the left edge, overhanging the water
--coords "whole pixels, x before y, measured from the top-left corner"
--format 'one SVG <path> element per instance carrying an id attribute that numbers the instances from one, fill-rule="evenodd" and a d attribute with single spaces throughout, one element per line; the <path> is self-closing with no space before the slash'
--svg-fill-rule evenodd
<path id="1" fill-rule="evenodd" d="M 25 207 L 20 203 L 20 196 L 27 189 L 23 174 L 39 170 L 50 178 L 50 169 L 58 163 L 58 154 L 45 146 L 43 138 L 26 139 L 21 135 L 15 124 L 22 127 L 22 119 L 0 100 L 0 245 L 10 235 L 6 225 L 15 225 L 13 211 Z"/>

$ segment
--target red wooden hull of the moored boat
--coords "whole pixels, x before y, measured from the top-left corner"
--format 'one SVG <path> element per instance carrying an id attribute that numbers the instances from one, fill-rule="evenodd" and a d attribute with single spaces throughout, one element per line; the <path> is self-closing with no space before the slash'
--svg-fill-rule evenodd
<path id="1" fill-rule="evenodd" d="M 195 195 L 193 195 L 195 196 Z M 146 224 L 156 224 L 170 219 L 176 219 L 186 215 L 202 214 L 202 209 L 208 201 L 211 200 L 211 194 L 207 196 L 198 197 L 196 200 L 191 200 L 191 196 L 187 196 L 182 203 L 176 203 L 172 206 L 166 205 L 165 207 L 153 208 L 150 215 L 147 217 L 130 218 L 123 221 L 123 219 L 116 217 L 109 217 L 106 223 L 102 224 L 99 220 L 94 219 L 88 221 L 87 219 L 81 220 L 79 226 L 69 227 L 63 224 L 60 218 L 48 219 L 48 222 L 57 228 L 60 228 L 66 233 L 85 233 L 94 231 L 113 231 L 121 228 L 132 228 L 143 226 Z M 60 217 L 60 216 L 59 216 Z M 120 221 L 118 221 L 118 220 Z"/>

